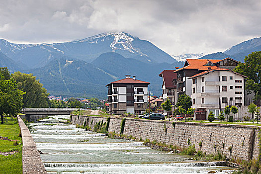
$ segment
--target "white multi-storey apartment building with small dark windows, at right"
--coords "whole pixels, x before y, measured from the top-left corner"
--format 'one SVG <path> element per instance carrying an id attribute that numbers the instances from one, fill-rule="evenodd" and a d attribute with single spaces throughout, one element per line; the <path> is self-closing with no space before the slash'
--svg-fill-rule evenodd
<path id="1" fill-rule="evenodd" d="M 228 69 L 216 68 L 196 74 L 192 79 L 192 108 L 195 119 L 205 120 L 212 111 L 217 118 L 220 110 L 229 105 L 245 105 L 244 80 L 247 78 Z"/>

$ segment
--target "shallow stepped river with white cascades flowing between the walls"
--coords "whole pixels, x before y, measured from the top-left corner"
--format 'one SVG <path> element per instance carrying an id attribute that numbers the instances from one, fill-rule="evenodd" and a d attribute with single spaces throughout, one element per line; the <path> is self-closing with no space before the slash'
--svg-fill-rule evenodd
<path id="1" fill-rule="evenodd" d="M 216 162 L 195 162 L 189 156 L 152 150 L 143 142 L 110 139 L 63 124 L 69 117 L 51 116 L 32 124 L 36 129 L 32 136 L 48 174 L 231 173 L 231 168 L 216 166 Z"/>

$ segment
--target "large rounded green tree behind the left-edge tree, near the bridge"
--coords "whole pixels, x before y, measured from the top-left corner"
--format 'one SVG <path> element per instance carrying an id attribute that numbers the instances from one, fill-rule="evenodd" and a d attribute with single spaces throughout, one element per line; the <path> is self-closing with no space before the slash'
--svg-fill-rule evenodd
<path id="1" fill-rule="evenodd" d="M 17 82 L 18 89 L 26 92 L 23 94 L 24 108 L 41 108 L 48 107 L 47 90 L 43 84 L 36 80 L 32 74 L 15 72 L 11 74 L 11 78 Z"/>

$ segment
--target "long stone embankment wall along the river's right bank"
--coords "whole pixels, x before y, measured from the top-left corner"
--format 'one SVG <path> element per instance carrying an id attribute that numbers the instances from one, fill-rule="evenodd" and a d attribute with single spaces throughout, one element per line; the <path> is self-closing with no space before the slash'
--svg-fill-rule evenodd
<path id="1" fill-rule="evenodd" d="M 123 118 L 111 117 L 109 132 L 119 134 Z M 93 129 L 94 125 L 107 117 L 72 115 L 72 124 L 86 125 Z M 195 144 L 197 150 L 206 154 L 218 151 L 228 158 L 250 160 L 257 159 L 259 150 L 259 134 L 261 126 L 229 125 L 215 123 L 169 122 L 126 118 L 123 134 L 138 139 L 150 139 L 181 148 L 188 147 L 188 140 Z M 202 146 L 199 144 L 202 142 Z"/>

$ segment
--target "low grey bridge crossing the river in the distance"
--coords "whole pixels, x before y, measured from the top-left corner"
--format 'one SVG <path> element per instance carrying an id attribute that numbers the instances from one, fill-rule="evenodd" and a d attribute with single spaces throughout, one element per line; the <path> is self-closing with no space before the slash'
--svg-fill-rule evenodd
<path id="1" fill-rule="evenodd" d="M 72 111 L 82 108 L 23 108 L 21 117 L 28 122 L 44 118 L 49 115 L 70 115 Z"/>

